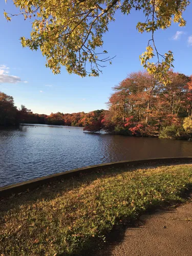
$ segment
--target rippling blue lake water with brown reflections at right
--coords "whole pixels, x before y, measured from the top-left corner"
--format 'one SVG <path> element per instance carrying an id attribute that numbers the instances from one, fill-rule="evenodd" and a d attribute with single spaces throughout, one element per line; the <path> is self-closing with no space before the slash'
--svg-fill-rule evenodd
<path id="1" fill-rule="evenodd" d="M 0 130 L 0 186 L 88 165 L 192 156 L 192 142 L 83 133 L 81 127 L 27 125 Z"/>

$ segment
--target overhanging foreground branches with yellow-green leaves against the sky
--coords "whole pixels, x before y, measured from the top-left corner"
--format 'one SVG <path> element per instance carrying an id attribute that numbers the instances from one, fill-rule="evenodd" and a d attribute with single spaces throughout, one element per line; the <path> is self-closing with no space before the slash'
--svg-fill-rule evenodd
<path id="1" fill-rule="evenodd" d="M 32 19 L 31 37 L 21 37 L 23 47 L 40 49 L 53 73 L 60 73 L 60 67 L 66 66 L 69 73 L 82 77 L 98 76 L 103 62 L 110 60 L 109 56 L 102 57 L 106 50 L 100 53 L 97 50 L 102 47 L 103 34 L 115 20 L 117 10 L 127 15 L 133 9 L 143 11 L 145 22 L 138 22 L 137 30 L 151 32 L 151 39 L 140 56 L 141 65 L 165 84 L 167 71 L 173 67 L 173 53 L 158 52 L 154 33 L 170 27 L 172 22 L 185 26 L 182 13 L 189 5 L 188 0 L 14 0 L 13 3 L 20 9 L 18 14 Z M 7 12 L 4 15 L 11 20 Z M 90 69 L 87 62 L 91 63 Z"/>

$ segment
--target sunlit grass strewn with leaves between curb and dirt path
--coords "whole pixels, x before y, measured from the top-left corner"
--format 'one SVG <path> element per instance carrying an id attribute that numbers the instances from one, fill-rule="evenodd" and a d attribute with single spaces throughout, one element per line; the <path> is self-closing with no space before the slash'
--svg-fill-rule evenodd
<path id="1" fill-rule="evenodd" d="M 183 202 L 192 165 L 109 169 L 54 182 L 0 202 L 2 255 L 73 255 L 104 241 L 114 225 Z"/>

